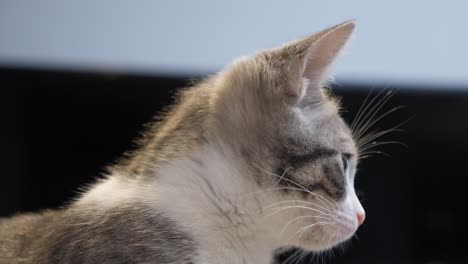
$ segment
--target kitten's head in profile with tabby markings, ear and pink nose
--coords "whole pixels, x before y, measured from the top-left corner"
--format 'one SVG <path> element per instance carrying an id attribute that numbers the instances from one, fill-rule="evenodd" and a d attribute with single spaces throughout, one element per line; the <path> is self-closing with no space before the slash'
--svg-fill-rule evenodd
<path id="1" fill-rule="evenodd" d="M 364 221 L 357 149 L 323 87 L 354 22 L 241 58 L 216 79 L 217 135 L 251 167 L 283 246 L 324 250 Z"/>

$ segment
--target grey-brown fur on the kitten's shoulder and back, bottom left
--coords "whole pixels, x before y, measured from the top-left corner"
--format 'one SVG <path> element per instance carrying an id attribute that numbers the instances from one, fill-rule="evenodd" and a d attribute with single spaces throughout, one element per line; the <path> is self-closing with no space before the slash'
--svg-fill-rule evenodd
<path id="1" fill-rule="evenodd" d="M 0 222 L 0 263 L 191 263 L 195 240 L 138 204 L 44 211 Z M 156 261 L 156 262 L 155 262 Z"/>

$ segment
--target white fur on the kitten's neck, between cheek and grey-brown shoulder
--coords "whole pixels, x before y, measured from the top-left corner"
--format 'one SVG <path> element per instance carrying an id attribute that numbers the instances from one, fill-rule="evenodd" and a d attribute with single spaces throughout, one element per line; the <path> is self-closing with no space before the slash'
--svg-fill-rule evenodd
<path id="1" fill-rule="evenodd" d="M 200 242 L 201 263 L 271 263 L 279 247 L 267 196 L 216 150 L 182 159 L 155 180 L 164 208 Z"/>

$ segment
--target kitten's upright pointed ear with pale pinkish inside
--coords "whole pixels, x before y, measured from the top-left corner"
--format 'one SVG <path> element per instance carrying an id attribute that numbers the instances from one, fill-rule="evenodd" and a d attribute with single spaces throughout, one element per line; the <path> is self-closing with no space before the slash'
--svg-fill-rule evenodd
<path id="1" fill-rule="evenodd" d="M 286 44 L 278 51 L 285 55 L 288 85 L 286 94 L 301 104 L 320 100 L 322 85 L 329 78 L 330 69 L 347 43 L 355 23 L 347 21 L 332 28 Z"/>

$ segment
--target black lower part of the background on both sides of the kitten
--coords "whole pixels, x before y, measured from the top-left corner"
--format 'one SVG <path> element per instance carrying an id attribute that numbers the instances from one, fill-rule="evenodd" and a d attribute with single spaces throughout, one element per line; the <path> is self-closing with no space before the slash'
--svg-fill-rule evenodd
<path id="1" fill-rule="evenodd" d="M 0 216 L 70 201 L 132 148 L 190 78 L 0 67 Z M 334 88 L 347 120 L 372 88 L 375 95 L 384 87 Z M 385 109 L 408 107 L 377 127 L 409 119 L 386 138 L 407 147 L 379 148 L 388 156 L 361 163 L 366 222 L 344 253 L 335 250 L 325 263 L 468 263 L 468 93 L 432 88 L 391 87 L 398 92 Z"/>

